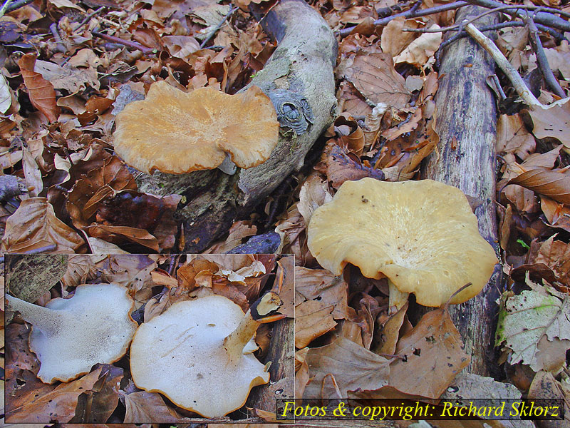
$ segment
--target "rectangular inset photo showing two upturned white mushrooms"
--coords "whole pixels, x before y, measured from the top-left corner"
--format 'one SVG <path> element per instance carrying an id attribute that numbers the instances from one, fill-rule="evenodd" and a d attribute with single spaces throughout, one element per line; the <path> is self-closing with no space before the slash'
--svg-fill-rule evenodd
<path id="1" fill-rule="evenodd" d="M 6 255 L 7 424 L 270 423 L 292 255 Z"/>

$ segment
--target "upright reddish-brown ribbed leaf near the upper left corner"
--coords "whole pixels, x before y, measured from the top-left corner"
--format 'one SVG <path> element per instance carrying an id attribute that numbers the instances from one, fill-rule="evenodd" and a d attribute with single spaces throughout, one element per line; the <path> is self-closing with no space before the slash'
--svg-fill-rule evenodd
<path id="1" fill-rule="evenodd" d="M 43 113 L 48 121 L 55 122 L 58 120 L 59 107 L 56 104 L 56 90 L 53 85 L 46 81 L 40 73 L 34 71 L 36 56 L 34 54 L 26 54 L 18 61 L 24 85 L 28 88 L 28 96 L 34 107 Z"/>

